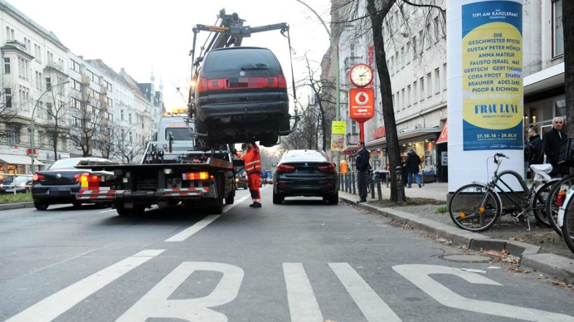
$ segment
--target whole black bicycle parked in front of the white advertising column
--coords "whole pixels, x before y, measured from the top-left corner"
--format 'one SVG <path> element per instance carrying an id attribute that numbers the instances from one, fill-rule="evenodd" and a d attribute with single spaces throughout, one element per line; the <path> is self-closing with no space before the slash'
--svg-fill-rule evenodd
<path id="1" fill-rule="evenodd" d="M 489 182 L 486 182 L 486 184 L 479 182 L 466 184 L 452 195 L 449 200 L 449 215 L 458 228 L 474 232 L 483 231 L 491 228 L 500 215 L 504 213 L 514 214 L 514 221 L 524 221 L 524 217 L 526 217 L 528 230 L 531 230 L 528 214 L 532 213 L 538 221 L 542 221 L 542 218 L 546 216 L 543 214 L 546 210 L 546 197 L 552 185 L 558 181 L 557 179 L 551 179 L 548 175 L 552 167 L 545 165 L 531 166 L 537 178 L 535 183 L 528 189 L 526 182 L 517 172 L 503 170 L 498 173 L 503 161 L 500 158 L 510 159 L 502 153 L 494 154 L 493 159 L 496 169 Z M 521 193 L 514 191 L 502 179 L 504 175 L 512 175 L 518 180 L 522 188 Z M 503 184 L 508 192 L 498 184 L 499 182 Z M 524 192 L 526 192 L 526 196 L 521 196 Z M 500 193 L 503 194 L 505 200 L 510 200 L 514 205 L 503 207 Z"/>

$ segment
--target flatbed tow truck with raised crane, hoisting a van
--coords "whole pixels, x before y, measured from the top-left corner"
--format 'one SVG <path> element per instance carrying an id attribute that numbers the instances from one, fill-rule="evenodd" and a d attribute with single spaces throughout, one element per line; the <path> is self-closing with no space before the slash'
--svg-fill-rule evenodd
<path id="1" fill-rule="evenodd" d="M 236 13 L 226 15 L 225 10 L 220 11 L 218 19 L 221 20 L 219 26 L 198 24 L 194 28 L 194 49 L 190 52 L 193 59 L 197 32 L 202 30 L 211 31 L 209 45 L 202 46 L 201 54 L 205 54 L 211 49 L 241 45 L 241 39 L 253 32 L 288 29 L 286 24 L 255 28 L 243 26 L 244 20 L 239 19 Z M 202 61 L 200 57 L 195 59 L 196 76 Z M 243 161 L 233 157 L 235 142 L 213 144 L 214 140 L 211 140 L 209 147 L 201 144 L 206 140 L 202 140 L 204 136 L 196 131 L 192 92 L 193 87 L 190 88 L 187 109 L 160 119 L 154 141 L 146 145 L 140 163 L 78 163 L 76 168 L 109 171 L 115 179 L 105 188 L 97 186 L 97 182 L 83 186 L 76 199 L 111 203 L 120 216 L 142 214 L 146 207 L 152 205 L 169 207 L 179 203 L 207 207 L 208 212 L 220 214 L 224 202 L 232 204 L 235 199 L 235 168 L 244 166 Z"/>

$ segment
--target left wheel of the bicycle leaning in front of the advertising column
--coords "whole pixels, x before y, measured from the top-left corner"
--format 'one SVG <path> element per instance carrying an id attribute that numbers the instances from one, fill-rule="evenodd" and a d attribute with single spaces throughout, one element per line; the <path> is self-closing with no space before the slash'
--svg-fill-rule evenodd
<path id="1" fill-rule="evenodd" d="M 464 230 L 486 230 L 496 223 L 501 213 L 500 196 L 484 184 L 461 186 L 449 200 L 450 217 Z"/>

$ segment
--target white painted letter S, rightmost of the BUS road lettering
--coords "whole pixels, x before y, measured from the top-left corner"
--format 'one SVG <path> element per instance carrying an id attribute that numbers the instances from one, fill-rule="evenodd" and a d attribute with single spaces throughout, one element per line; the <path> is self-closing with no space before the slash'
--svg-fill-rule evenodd
<path id="1" fill-rule="evenodd" d="M 493 281 L 488 277 L 484 277 L 483 275 L 478 275 L 476 273 L 464 272 L 458 268 L 450 268 L 447 266 L 415 264 L 396 265 L 393 266 L 393 270 L 398 272 L 400 275 L 402 275 L 402 277 L 408 279 L 412 284 L 416 285 L 422 291 L 446 307 L 453 307 L 455 309 L 463 309 L 465 311 L 491 314 L 496 316 L 505 316 L 511 319 L 526 321 L 574 321 L 573 316 L 565 314 L 547 312 L 540 309 L 531 309 L 529 307 L 518 307 L 498 302 L 465 298 L 461 295 L 458 295 L 457 293 L 454 293 L 446 286 L 440 284 L 432 277 L 428 276 L 432 274 L 448 274 L 460 277 L 461 279 L 464 279 L 471 284 L 503 286 L 502 284 Z"/>

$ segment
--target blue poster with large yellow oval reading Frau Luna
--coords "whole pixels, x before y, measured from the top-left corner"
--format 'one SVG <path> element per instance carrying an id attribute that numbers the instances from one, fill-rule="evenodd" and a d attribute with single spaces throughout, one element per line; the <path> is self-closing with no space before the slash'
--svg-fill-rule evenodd
<path id="1" fill-rule="evenodd" d="M 463 150 L 522 149 L 522 6 L 462 6 Z"/>

